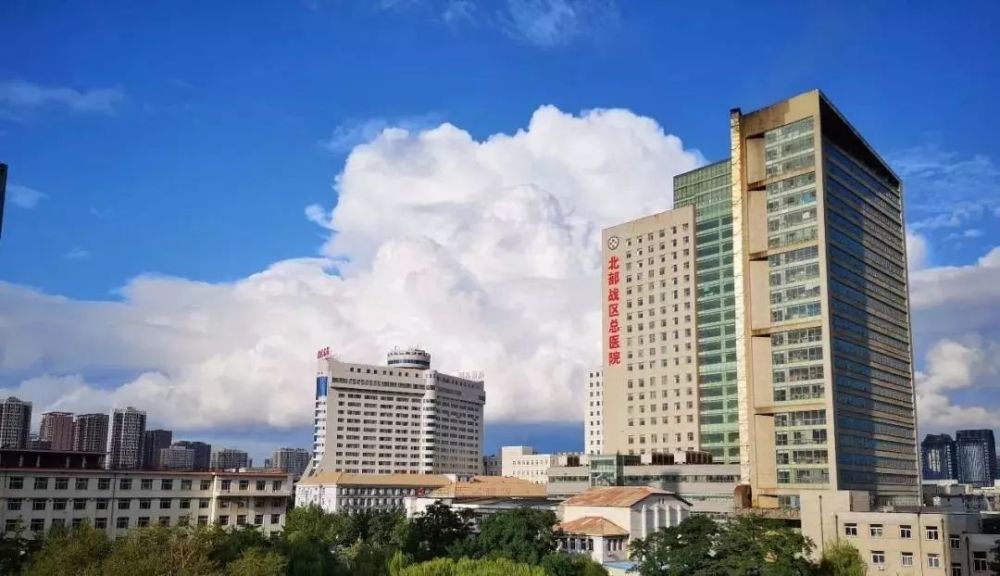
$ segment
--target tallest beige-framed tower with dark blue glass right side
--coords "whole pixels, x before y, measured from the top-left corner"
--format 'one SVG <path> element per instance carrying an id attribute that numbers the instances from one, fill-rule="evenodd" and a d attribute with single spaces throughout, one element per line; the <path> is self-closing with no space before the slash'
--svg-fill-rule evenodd
<path id="1" fill-rule="evenodd" d="M 919 504 L 902 186 L 820 92 L 730 115 L 742 481 Z"/>

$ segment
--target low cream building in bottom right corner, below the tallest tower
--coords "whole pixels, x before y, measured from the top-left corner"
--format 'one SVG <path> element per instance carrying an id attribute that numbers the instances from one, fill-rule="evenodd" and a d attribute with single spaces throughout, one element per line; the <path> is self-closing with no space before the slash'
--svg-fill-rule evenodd
<path id="1" fill-rule="evenodd" d="M 894 576 L 986 576 L 989 548 L 1000 535 L 982 534 L 978 512 L 933 508 L 870 510 L 864 492 L 809 492 L 801 500 L 802 533 L 817 545 L 831 542 L 858 549 L 868 574 Z"/>

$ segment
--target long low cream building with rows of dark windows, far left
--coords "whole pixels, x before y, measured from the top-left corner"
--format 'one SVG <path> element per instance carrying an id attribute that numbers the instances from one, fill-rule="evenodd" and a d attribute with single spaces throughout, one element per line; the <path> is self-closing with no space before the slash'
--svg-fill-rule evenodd
<path id="1" fill-rule="evenodd" d="M 291 476 L 270 472 L 0 470 L 0 526 L 29 536 L 83 522 L 116 538 L 141 526 L 256 526 L 281 532 Z"/>

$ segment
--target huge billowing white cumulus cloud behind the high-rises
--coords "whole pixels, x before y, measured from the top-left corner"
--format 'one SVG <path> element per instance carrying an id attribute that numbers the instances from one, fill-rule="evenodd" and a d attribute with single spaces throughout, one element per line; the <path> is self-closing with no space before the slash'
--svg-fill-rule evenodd
<path id="1" fill-rule="evenodd" d="M 39 411 L 308 426 L 316 349 L 382 362 L 414 344 L 440 370 L 484 370 L 491 420 L 578 420 L 567 399 L 600 361 L 600 229 L 669 208 L 673 175 L 703 162 L 625 110 L 546 106 L 481 141 L 388 128 L 348 156 L 335 208 L 308 209 L 332 230 L 322 257 L 232 283 L 142 276 L 110 302 L 0 283 L 0 382 Z"/>

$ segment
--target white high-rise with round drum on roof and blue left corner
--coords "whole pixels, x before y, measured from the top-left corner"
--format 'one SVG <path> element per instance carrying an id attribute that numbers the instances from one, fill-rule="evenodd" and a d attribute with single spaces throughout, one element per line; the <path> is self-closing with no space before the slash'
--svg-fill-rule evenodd
<path id="1" fill-rule="evenodd" d="M 395 350 L 385 366 L 317 355 L 310 474 L 482 472 L 481 377 L 431 369 L 423 350 Z"/>

